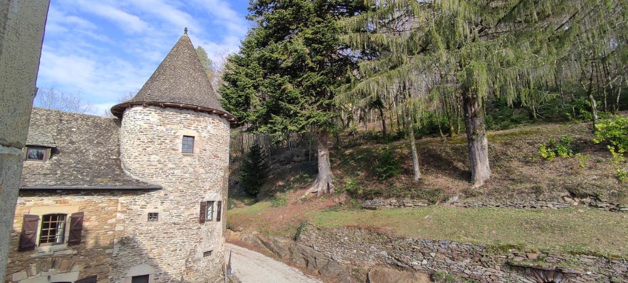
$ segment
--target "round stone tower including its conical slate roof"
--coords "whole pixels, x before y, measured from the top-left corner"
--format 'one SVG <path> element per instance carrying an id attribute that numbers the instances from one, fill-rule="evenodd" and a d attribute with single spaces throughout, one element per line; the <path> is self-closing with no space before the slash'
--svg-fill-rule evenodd
<path id="1" fill-rule="evenodd" d="M 163 189 L 126 199 L 110 282 L 130 283 L 135 274 L 155 283 L 219 279 L 236 118 L 220 107 L 187 33 L 138 94 L 111 112 L 122 118 L 123 169 Z"/>

